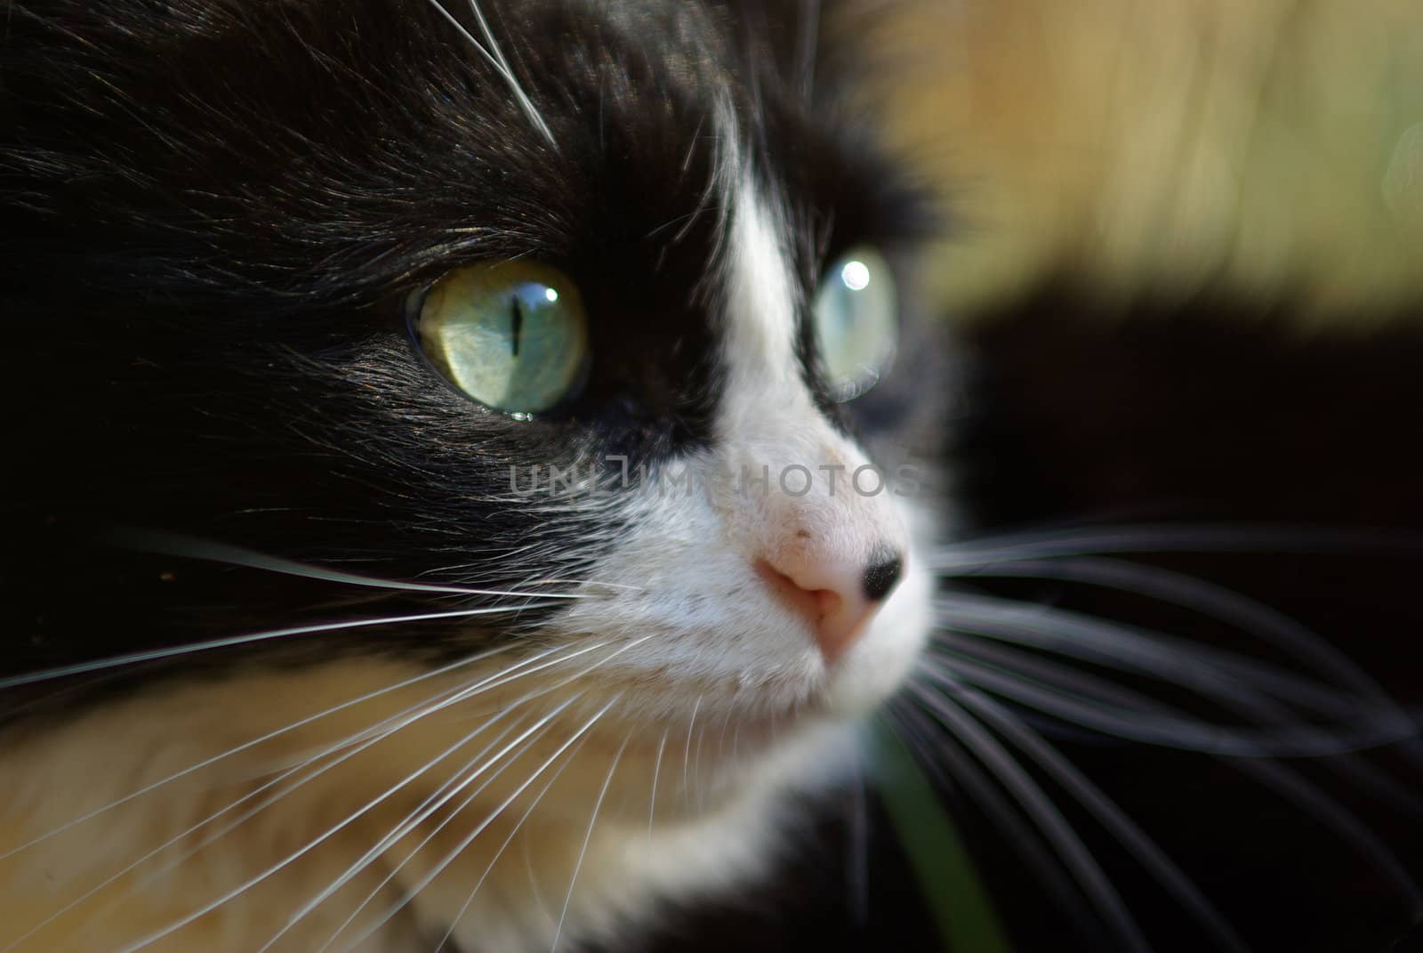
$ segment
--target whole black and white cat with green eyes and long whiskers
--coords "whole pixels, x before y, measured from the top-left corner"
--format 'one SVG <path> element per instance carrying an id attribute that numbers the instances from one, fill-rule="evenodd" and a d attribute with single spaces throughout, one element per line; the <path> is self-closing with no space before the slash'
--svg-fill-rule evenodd
<path id="1" fill-rule="evenodd" d="M 1151 322 L 1104 359 L 1069 285 L 962 377 L 824 30 L 857 6 L 6 4 L 0 953 L 723 949 L 665 915 L 747 897 L 788 922 L 756 949 L 928 949 L 902 858 L 857 875 L 872 939 L 838 865 L 773 876 L 867 803 L 901 688 L 1019 949 L 1407 929 L 1416 721 L 1296 623 L 1101 558 L 1321 537 L 949 521 L 1279 500 L 1254 437 L 1183 459 L 1303 406 L 1229 387 L 1279 350 L 1231 338 L 1232 377 Z M 1202 368 L 1220 403 L 1173 403 Z"/>

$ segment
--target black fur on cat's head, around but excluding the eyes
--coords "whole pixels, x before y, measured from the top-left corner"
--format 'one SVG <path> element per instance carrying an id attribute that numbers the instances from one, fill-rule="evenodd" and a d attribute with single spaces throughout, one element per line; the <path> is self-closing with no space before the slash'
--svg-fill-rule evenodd
<path id="1" fill-rule="evenodd" d="M 112 526 L 396 578 L 583 574 L 616 503 L 511 506 L 511 467 L 625 454 L 636 473 L 710 439 L 721 104 L 804 224 L 807 301 L 827 255 L 902 245 L 908 192 L 830 77 L 804 81 L 800 4 L 484 7 L 556 147 L 425 0 L 7 4 L 0 675 L 337 610 L 310 584 L 95 546 Z M 531 422 L 443 386 L 404 328 L 441 274 L 517 256 L 571 275 L 592 322 L 586 387 Z M 447 628 L 340 644 L 424 654 Z M 209 664 L 231 660 L 184 662 Z"/>

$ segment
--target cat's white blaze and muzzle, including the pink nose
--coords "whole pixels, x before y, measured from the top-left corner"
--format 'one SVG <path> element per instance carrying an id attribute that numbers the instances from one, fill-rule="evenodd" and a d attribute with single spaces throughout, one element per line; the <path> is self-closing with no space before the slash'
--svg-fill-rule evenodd
<path id="1" fill-rule="evenodd" d="M 638 590 L 615 605 L 581 603 L 561 625 L 652 635 L 619 664 L 659 672 L 665 689 L 647 702 L 657 715 L 684 718 L 693 702 L 704 715 L 814 698 L 864 711 L 902 679 L 928 627 L 931 587 L 906 526 L 912 501 L 879 489 L 878 477 L 855 489 L 869 460 L 831 426 L 803 377 L 801 289 L 780 205 L 748 174 L 724 175 L 721 187 L 724 376 L 713 446 L 670 463 L 628 503 L 632 528 L 599 578 Z M 669 489 L 667 474 L 683 467 L 709 479 L 694 493 Z M 882 603 L 867 598 L 865 571 L 891 557 L 904 563 L 899 584 Z"/>

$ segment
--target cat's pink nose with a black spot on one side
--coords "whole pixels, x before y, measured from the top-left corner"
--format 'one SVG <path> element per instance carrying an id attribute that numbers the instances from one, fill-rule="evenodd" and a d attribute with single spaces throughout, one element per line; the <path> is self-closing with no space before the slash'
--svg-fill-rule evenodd
<path id="1" fill-rule="evenodd" d="M 797 553 L 758 560 L 761 578 L 776 595 L 810 623 L 825 664 L 832 664 L 869 627 L 869 620 L 899 584 L 904 558 L 879 554 L 868 563 Z"/>

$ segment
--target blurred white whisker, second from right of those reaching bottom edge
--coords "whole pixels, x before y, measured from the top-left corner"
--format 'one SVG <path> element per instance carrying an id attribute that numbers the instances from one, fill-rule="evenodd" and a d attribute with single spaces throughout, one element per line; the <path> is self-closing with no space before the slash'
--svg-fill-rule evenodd
<path id="1" fill-rule="evenodd" d="M 1072 870 L 1083 895 L 1097 907 L 1104 920 L 1121 937 L 1126 947 L 1147 953 L 1151 946 L 1136 919 L 1127 910 L 1121 895 L 1111 886 L 1101 866 L 1087 850 L 1072 825 L 1057 806 L 1043 792 L 1037 782 L 1019 765 L 1010 754 L 970 715 L 948 699 L 912 685 L 909 691 L 938 721 L 953 732 L 979 761 L 1003 783 L 1007 792 L 1023 808 L 1023 812 L 1037 825 L 1037 829 L 1053 845 L 1063 863 Z"/>

